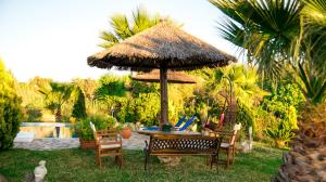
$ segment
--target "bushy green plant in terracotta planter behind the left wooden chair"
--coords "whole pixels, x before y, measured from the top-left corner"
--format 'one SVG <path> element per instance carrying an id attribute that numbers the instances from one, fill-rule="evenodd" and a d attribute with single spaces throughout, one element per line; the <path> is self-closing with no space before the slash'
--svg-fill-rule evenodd
<path id="1" fill-rule="evenodd" d="M 75 131 L 79 136 L 80 147 L 83 150 L 96 147 L 93 131 L 90 129 L 89 125 L 90 121 L 96 126 L 97 130 L 106 130 L 108 128 L 113 127 L 116 119 L 112 116 L 96 115 L 78 121 L 75 125 Z"/>

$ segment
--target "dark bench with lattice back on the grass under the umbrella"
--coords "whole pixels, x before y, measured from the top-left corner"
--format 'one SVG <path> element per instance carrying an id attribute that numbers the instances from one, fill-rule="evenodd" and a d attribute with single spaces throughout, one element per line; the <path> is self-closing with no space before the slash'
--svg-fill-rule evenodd
<path id="1" fill-rule="evenodd" d="M 151 135 L 150 142 L 145 141 L 145 170 L 150 156 L 210 156 L 211 169 L 218 160 L 222 138 L 201 135 Z M 217 159 L 216 159 L 217 157 Z"/>

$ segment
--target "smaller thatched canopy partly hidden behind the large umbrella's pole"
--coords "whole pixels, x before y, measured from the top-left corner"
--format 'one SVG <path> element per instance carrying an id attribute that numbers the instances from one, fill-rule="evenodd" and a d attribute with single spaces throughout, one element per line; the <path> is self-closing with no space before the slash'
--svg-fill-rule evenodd
<path id="1" fill-rule="evenodd" d="M 150 73 L 137 73 L 131 75 L 131 79 L 137 81 L 160 82 L 160 70 L 154 69 Z M 196 83 L 196 80 L 183 72 L 167 70 L 167 82 L 170 83 Z"/>

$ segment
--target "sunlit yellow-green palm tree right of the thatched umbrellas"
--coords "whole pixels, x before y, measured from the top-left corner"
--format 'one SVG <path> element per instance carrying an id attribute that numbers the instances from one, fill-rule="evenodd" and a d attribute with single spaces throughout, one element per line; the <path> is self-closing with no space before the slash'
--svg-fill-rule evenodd
<path id="1" fill-rule="evenodd" d="M 262 101 L 263 96 L 268 94 L 258 86 L 256 70 L 243 65 L 230 65 L 216 69 L 215 76 L 211 80 L 211 84 L 215 87 L 213 87 L 213 93 L 222 93 L 228 101 L 226 121 L 231 121 L 233 115 L 236 115 L 237 121 L 240 121 L 244 128 L 252 126 L 255 133 L 255 106 Z M 230 86 L 233 88 L 231 93 Z M 231 103 L 233 101 L 229 101 L 229 94 L 233 95 L 236 105 Z M 229 117 L 230 119 L 228 119 Z"/>

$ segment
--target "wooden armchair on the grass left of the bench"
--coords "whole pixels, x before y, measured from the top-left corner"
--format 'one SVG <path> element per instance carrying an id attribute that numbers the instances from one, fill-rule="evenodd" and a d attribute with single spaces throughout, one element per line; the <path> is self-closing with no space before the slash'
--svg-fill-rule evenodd
<path id="1" fill-rule="evenodd" d="M 97 131 L 95 125 L 90 122 L 96 140 L 96 160 L 102 168 L 102 157 L 115 156 L 115 162 L 122 167 L 122 139 L 116 131 L 103 130 Z"/>

